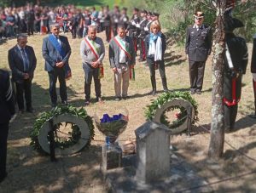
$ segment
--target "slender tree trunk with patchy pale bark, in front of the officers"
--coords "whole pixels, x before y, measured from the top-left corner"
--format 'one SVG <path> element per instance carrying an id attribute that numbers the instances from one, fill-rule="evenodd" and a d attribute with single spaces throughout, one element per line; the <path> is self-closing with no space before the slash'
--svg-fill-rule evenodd
<path id="1" fill-rule="evenodd" d="M 213 34 L 213 59 L 212 59 L 212 124 L 211 140 L 208 156 L 218 160 L 224 151 L 224 13 L 225 0 L 217 1 L 216 28 Z"/>

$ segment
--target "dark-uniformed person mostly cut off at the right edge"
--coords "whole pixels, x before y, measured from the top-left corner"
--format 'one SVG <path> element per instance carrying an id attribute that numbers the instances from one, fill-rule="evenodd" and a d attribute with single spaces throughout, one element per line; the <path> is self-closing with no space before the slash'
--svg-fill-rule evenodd
<path id="1" fill-rule="evenodd" d="M 252 118 L 256 118 L 256 34 L 253 36 L 253 54 L 252 54 L 251 72 L 253 75 L 254 113 L 253 115 L 250 115 L 250 116 Z"/>

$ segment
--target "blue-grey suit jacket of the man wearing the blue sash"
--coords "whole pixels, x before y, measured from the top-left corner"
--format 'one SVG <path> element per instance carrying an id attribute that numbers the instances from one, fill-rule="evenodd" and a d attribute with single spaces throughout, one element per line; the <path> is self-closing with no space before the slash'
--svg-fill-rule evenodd
<path id="1" fill-rule="evenodd" d="M 63 62 L 64 65 L 68 65 L 68 60 L 71 54 L 71 48 L 68 43 L 67 37 L 59 37 L 61 40 L 61 48 L 64 49 L 66 56 L 61 59 L 61 55 L 55 49 L 52 43 L 49 42 L 49 37 L 44 37 L 42 53 L 45 60 L 44 70 L 45 71 L 54 71 L 56 67 L 56 62 Z M 62 68 L 64 67 L 62 66 Z"/>

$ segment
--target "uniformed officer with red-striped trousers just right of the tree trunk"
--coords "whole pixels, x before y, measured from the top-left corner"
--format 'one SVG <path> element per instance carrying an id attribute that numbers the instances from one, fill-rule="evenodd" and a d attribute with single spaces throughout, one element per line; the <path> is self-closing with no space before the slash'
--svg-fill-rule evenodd
<path id="1" fill-rule="evenodd" d="M 227 16 L 224 20 L 224 127 L 227 132 L 234 128 L 236 122 L 238 102 L 241 98 L 241 77 L 246 73 L 248 62 L 245 39 L 236 37 L 233 33 L 236 28 L 242 26 L 241 20 L 236 18 Z"/>

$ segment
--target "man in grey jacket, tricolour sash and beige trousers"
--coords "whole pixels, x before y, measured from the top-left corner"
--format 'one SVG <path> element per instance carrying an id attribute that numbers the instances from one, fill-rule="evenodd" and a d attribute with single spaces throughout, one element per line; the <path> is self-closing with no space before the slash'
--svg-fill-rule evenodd
<path id="1" fill-rule="evenodd" d="M 135 50 L 131 37 L 125 36 L 125 26 L 118 26 L 118 35 L 109 43 L 109 62 L 114 74 L 115 100 L 127 99 L 130 71 L 135 65 Z M 121 94 L 121 83 L 122 94 Z"/>

